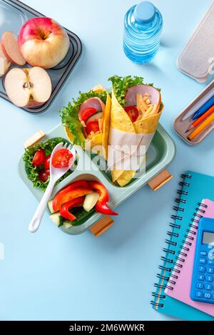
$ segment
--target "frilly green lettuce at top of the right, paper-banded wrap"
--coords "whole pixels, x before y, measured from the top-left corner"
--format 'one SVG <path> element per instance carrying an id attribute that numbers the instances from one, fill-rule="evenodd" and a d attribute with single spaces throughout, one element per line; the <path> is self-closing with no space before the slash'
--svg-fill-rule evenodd
<path id="1" fill-rule="evenodd" d="M 125 95 L 128 88 L 130 88 L 131 86 L 144 84 L 144 78 L 138 76 L 112 76 L 108 78 L 108 81 L 111 81 L 113 86 L 113 92 L 116 95 L 118 103 L 120 103 L 121 106 L 125 105 Z M 146 85 L 153 86 L 153 83 L 148 83 Z M 157 88 L 157 90 L 160 91 L 159 88 Z"/>

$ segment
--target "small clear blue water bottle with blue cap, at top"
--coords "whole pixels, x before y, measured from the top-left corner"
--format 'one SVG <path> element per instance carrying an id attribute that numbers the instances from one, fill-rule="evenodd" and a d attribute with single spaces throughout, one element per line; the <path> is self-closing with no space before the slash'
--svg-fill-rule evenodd
<path id="1" fill-rule="evenodd" d="M 124 19 L 123 50 L 136 63 L 147 63 L 160 46 L 163 18 L 149 1 L 132 6 Z"/>

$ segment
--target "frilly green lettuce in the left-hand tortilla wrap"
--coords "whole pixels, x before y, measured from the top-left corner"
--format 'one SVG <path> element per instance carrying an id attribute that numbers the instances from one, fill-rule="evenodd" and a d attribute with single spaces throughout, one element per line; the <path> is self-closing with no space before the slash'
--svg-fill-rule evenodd
<path id="1" fill-rule="evenodd" d="M 72 99 L 72 102 L 68 103 L 66 107 L 63 107 L 59 113 L 61 115 L 61 121 L 73 135 L 73 144 L 85 145 L 85 136 L 83 135 L 83 125 L 81 125 L 78 119 L 78 110 L 81 104 L 89 98 L 98 97 L 103 103 L 106 103 L 107 93 L 103 91 L 98 93 L 96 91 L 89 91 L 87 93 L 81 93 L 79 91 L 78 98 Z"/>

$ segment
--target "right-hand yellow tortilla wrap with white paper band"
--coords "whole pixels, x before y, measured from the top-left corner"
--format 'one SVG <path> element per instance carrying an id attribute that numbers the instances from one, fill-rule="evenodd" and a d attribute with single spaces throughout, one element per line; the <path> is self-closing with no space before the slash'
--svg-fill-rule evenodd
<path id="1" fill-rule="evenodd" d="M 133 179 L 136 170 L 141 167 L 139 164 L 137 168 L 126 168 L 126 166 L 131 166 L 129 163 L 133 156 L 139 155 L 140 160 L 138 161 L 141 163 L 146 160 L 146 151 L 156 133 L 163 103 L 160 90 L 154 88 L 153 84 L 145 85 L 142 77 L 113 76 L 109 80 L 112 82 L 113 91 L 108 139 L 108 168 L 111 170 L 113 182 L 122 187 Z M 126 149 L 123 150 L 123 145 L 130 147 L 130 150 L 128 152 Z M 132 147 L 136 148 L 134 152 Z M 145 150 L 143 155 L 138 153 L 140 147 Z M 116 155 L 113 155 L 118 150 L 122 152 L 125 168 L 118 168 L 121 165 L 118 165 Z"/>

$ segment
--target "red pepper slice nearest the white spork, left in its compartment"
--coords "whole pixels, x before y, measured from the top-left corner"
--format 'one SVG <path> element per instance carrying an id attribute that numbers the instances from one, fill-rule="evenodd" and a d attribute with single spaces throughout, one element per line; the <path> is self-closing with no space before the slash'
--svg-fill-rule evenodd
<path id="1" fill-rule="evenodd" d="M 81 192 L 73 193 L 73 191 L 76 190 L 81 190 Z M 53 200 L 53 210 L 58 212 L 64 202 L 68 202 L 75 197 L 81 197 L 92 192 L 93 191 L 90 189 L 90 187 L 88 187 L 88 182 L 86 182 L 86 180 L 77 180 L 76 182 L 72 182 L 71 185 L 68 185 L 63 190 L 58 192 L 57 195 L 55 195 Z"/>

